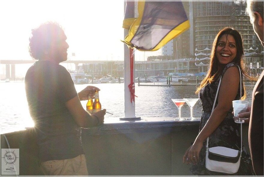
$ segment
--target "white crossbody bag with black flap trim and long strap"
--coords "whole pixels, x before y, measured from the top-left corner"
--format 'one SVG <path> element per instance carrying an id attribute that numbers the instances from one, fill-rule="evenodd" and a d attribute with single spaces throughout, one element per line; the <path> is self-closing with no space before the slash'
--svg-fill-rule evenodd
<path id="1" fill-rule="evenodd" d="M 239 69 L 239 75 L 240 75 L 240 98 L 242 96 L 242 79 L 241 79 L 241 72 Z M 214 98 L 214 104 L 212 108 L 212 112 L 214 110 L 216 98 L 218 95 L 220 83 L 221 83 L 222 76 L 220 78 L 218 88 L 216 91 L 216 95 Z M 211 112 L 211 114 L 212 114 Z M 205 157 L 205 167 L 207 170 L 219 172 L 219 173 L 227 173 L 227 174 L 234 174 L 238 172 L 239 165 L 240 165 L 240 159 L 242 154 L 242 124 L 241 124 L 241 149 L 235 150 L 231 148 L 226 148 L 223 146 L 216 146 L 208 148 L 208 141 L 209 137 L 207 137 L 207 143 L 206 143 L 206 157 Z"/>

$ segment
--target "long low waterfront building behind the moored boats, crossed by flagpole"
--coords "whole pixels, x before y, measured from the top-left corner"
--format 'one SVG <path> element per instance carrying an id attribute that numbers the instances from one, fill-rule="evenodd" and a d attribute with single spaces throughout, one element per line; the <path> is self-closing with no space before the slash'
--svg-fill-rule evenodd
<path id="1" fill-rule="evenodd" d="M 193 58 L 135 61 L 134 67 L 135 77 L 167 76 L 168 73 L 177 73 L 179 76 L 205 74 L 201 67 L 195 65 Z M 76 70 L 84 70 L 91 76 L 124 77 L 124 61 L 91 61 L 78 65 Z"/>

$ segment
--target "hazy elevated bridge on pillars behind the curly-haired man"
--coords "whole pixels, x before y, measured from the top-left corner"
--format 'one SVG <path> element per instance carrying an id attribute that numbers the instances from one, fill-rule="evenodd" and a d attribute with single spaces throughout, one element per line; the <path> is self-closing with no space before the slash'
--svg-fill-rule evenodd
<path id="1" fill-rule="evenodd" d="M 15 72 L 15 65 L 16 64 L 30 64 L 30 63 L 35 63 L 35 61 L 37 60 L 29 60 L 29 59 L 25 59 L 25 60 L 0 60 L 0 64 L 5 64 L 5 77 L 6 79 L 10 79 L 10 78 L 15 78 L 16 77 L 16 72 Z M 73 63 L 76 66 L 78 66 L 78 64 L 83 63 L 83 64 L 104 64 L 107 62 L 111 62 L 111 61 L 89 61 L 89 60 L 67 60 L 67 61 L 63 61 L 62 63 Z M 116 62 L 116 61 L 112 61 L 112 62 Z M 10 65 L 11 65 L 11 77 L 10 77 Z"/>

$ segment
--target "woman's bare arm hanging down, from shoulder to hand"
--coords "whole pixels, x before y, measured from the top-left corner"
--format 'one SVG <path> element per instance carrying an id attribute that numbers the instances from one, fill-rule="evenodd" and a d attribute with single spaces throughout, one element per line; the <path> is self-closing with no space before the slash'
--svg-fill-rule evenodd
<path id="1" fill-rule="evenodd" d="M 215 131 L 232 107 L 232 101 L 235 99 L 238 91 L 239 80 L 240 76 L 237 67 L 230 67 L 226 70 L 219 88 L 218 104 L 202 131 L 200 131 L 199 135 L 196 137 L 193 145 L 187 150 L 188 152 L 185 153 L 189 159 L 189 162 L 187 163 L 191 162 L 197 164 L 199 161 L 199 153 L 202 149 L 202 143 Z M 193 156 L 195 157 L 193 158 Z"/>

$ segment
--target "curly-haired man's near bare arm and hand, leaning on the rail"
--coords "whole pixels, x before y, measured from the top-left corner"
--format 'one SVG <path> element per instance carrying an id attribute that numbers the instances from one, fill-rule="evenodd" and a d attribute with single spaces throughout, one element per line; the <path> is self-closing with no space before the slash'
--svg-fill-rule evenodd
<path id="1" fill-rule="evenodd" d="M 105 109 L 101 110 L 94 115 L 90 116 L 82 107 L 79 97 L 76 96 L 66 102 L 66 107 L 73 115 L 73 118 L 77 125 L 88 128 L 96 125 L 100 125 L 104 122 Z"/>

